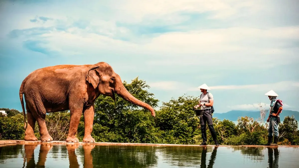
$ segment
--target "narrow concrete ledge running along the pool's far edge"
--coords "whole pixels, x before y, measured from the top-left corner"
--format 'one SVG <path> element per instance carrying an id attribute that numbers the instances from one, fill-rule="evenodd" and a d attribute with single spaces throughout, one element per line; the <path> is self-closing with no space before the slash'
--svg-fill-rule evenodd
<path id="1" fill-rule="evenodd" d="M 117 146 L 200 146 L 200 145 L 181 145 L 181 144 L 159 144 L 159 143 L 114 143 L 114 142 L 65 142 L 65 141 L 26 141 L 26 140 L 0 140 L 0 146 L 13 145 L 13 144 L 29 144 L 29 143 L 51 143 L 51 144 L 94 144 L 94 145 L 117 145 Z M 215 146 L 215 145 L 207 145 Z M 220 145 L 226 146 L 229 145 Z M 264 145 L 236 145 L 239 147 L 277 147 L 277 146 L 264 146 Z M 299 145 L 279 145 L 278 147 L 299 147 Z"/>

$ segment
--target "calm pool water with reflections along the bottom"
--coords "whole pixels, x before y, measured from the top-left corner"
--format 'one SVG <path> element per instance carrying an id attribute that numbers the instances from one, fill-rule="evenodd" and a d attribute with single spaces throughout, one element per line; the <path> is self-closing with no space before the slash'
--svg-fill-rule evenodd
<path id="1" fill-rule="evenodd" d="M 296 147 L 100 146 L 51 143 L 0 147 L 0 167 L 296 167 Z"/>

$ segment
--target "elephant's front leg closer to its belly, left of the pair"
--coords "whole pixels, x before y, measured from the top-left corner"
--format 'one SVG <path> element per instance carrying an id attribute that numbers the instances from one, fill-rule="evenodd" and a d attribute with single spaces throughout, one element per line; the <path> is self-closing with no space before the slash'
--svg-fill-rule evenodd
<path id="1" fill-rule="evenodd" d="M 66 138 L 66 142 L 79 142 L 78 138 L 76 138 L 75 135 L 78 129 L 82 111 L 83 106 L 80 108 L 70 108 L 71 121 L 70 128 L 68 129 L 68 137 Z"/>

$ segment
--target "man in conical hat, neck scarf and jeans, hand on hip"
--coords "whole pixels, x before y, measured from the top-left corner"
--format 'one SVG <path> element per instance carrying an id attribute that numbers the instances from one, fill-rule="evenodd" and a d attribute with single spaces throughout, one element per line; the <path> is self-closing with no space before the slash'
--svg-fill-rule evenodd
<path id="1" fill-rule="evenodd" d="M 270 122 L 268 128 L 268 143 L 265 145 L 277 146 L 278 136 L 279 136 L 278 123 L 280 123 L 279 113 L 283 109 L 282 108 L 283 103 L 282 100 L 276 98 L 278 94 L 276 94 L 273 90 L 268 91 L 265 95 L 267 95 L 271 100 L 270 114 L 267 119 L 267 122 Z M 272 143 L 273 134 L 274 134 L 274 143 Z"/>

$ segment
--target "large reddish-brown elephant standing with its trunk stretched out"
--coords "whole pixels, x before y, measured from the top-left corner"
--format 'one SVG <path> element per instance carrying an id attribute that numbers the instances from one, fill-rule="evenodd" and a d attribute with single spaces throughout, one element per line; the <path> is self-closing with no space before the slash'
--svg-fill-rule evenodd
<path id="1" fill-rule="evenodd" d="M 27 128 L 24 100 L 27 110 Z M 24 114 L 25 140 L 37 141 L 34 135 L 35 122 L 39 126 L 40 140 L 52 141 L 45 117 L 46 113 L 70 111 L 70 126 L 66 142 L 79 142 L 75 134 L 80 117 L 84 116 L 83 142 L 95 142 L 91 137 L 94 120 L 94 102 L 100 95 L 112 97 L 115 94 L 124 100 L 143 107 L 155 117 L 155 110 L 149 104 L 138 100 L 124 87 L 120 76 L 106 62 L 87 65 L 54 65 L 31 72 L 22 81 L 19 90 Z"/>

